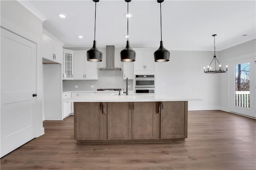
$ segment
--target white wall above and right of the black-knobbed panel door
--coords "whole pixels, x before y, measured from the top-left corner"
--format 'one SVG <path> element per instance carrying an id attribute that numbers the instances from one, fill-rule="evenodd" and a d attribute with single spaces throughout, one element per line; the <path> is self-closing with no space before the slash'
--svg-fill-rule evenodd
<path id="1" fill-rule="evenodd" d="M 37 44 L 37 104 L 36 104 L 36 135 L 44 134 L 42 125 L 42 57 L 40 46 L 42 42 L 42 21 L 29 12 L 17 1 L 0 1 L 0 25 Z"/>

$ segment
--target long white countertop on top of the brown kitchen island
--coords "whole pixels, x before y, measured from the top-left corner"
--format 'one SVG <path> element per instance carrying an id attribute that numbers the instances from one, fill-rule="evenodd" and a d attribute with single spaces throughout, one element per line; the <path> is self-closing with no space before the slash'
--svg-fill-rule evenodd
<path id="1" fill-rule="evenodd" d="M 166 95 L 130 94 L 130 95 L 86 95 L 75 96 L 62 102 L 150 102 L 150 101 L 201 101 L 202 99 L 176 99 Z"/>

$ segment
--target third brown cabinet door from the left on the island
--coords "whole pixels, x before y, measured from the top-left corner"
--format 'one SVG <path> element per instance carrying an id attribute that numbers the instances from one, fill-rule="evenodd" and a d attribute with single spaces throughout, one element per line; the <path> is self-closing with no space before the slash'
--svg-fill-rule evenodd
<path id="1" fill-rule="evenodd" d="M 156 126 L 156 103 L 134 102 L 132 106 L 132 139 L 159 138 Z"/>

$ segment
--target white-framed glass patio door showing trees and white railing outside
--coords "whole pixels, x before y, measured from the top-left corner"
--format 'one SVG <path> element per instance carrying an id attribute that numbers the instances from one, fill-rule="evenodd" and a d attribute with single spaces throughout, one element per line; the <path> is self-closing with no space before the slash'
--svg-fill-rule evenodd
<path id="1" fill-rule="evenodd" d="M 256 117 L 255 57 L 230 62 L 230 111 Z"/>

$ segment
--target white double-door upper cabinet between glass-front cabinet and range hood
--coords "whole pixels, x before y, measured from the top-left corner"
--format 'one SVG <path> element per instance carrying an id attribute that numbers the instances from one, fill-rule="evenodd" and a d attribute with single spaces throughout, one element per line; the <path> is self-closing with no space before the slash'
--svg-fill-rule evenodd
<path id="1" fill-rule="evenodd" d="M 74 51 L 74 80 L 97 79 L 97 62 L 87 61 L 86 51 Z"/>

